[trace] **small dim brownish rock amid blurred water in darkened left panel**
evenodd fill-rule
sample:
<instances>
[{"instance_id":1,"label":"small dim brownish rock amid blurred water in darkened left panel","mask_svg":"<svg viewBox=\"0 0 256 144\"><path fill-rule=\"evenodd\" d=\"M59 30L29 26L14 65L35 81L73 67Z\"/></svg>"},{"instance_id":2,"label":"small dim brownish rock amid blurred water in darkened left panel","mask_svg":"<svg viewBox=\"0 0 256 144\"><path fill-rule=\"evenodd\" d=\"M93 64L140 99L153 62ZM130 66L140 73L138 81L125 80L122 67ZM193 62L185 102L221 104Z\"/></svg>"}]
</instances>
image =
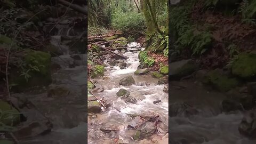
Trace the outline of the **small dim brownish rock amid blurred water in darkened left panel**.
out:
<instances>
[{"instance_id":1,"label":"small dim brownish rock amid blurred water in darkened left panel","mask_svg":"<svg viewBox=\"0 0 256 144\"><path fill-rule=\"evenodd\" d=\"M67 86L51 84L47 91L47 97L66 97L69 93L70 91Z\"/></svg>"}]
</instances>

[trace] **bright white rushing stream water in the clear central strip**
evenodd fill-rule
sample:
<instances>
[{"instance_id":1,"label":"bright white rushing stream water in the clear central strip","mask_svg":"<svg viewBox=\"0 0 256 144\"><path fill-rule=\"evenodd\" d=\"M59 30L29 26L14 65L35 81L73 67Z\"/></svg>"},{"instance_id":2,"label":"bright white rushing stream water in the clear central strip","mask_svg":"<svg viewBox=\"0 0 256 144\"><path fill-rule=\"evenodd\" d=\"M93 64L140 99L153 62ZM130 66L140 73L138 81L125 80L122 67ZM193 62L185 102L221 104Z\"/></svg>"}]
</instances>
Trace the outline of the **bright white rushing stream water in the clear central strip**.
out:
<instances>
[{"instance_id":1,"label":"bright white rushing stream water in the clear central strip","mask_svg":"<svg viewBox=\"0 0 256 144\"><path fill-rule=\"evenodd\" d=\"M129 143L139 143L131 139L135 130L127 130L127 125L132 118L127 114L141 113L158 113L163 122L168 124L168 94L163 92L164 85L157 85L157 79L150 75L134 75L140 62L138 60L138 52L126 52L124 55L129 59L126 69L120 67L106 67L105 77L97 79L97 82L105 87L105 91L95 93L97 97L104 98L110 102L112 107L105 113L98 114L97 118L89 117L88 125L88 143L113 143L114 138L123 139ZM107 61L105 61L108 64ZM135 84L131 86L119 86L119 80L125 76L132 75ZM136 98L136 104L125 103L124 100L118 98L116 93L120 89L126 89L131 92L130 96ZM161 103L155 105L153 101L162 100ZM105 133L99 130L102 125L116 124L119 128L117 133Z\"/></svg>"}]
</instances>

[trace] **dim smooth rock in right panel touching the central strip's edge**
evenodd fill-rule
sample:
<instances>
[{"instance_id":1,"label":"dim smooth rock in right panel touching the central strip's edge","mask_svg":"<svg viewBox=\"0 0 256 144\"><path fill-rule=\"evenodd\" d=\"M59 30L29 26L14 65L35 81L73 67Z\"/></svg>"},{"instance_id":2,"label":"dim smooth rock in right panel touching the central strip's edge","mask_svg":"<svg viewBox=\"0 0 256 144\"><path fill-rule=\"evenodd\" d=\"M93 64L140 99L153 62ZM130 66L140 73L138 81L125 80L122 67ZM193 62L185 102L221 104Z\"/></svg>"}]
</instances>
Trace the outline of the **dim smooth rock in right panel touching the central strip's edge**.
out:
<instances>
[{"instance_id":1,"label":"dim smooth rock in right panel touching the central strip's edge","mask_svg":"<svg viewBox=\"0 0 256 144\"><path fill-rule=\"evenodd\" d=\"M191 59L172 62L169 67L169 79L171 81L192 74L197 69L195 62Z\"/></svg>"}]
</instances>

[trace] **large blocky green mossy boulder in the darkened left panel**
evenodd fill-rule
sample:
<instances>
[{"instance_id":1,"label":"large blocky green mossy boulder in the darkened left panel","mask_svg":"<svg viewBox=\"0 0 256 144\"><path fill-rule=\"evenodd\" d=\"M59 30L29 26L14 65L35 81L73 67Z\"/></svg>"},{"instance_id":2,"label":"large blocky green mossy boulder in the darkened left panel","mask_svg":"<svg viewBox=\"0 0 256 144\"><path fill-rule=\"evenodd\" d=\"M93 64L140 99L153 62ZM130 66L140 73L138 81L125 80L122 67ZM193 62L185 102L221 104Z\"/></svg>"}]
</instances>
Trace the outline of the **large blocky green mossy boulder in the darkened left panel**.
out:
<instances>
[{"instance_id":1,"label":"large blocky green mossy boulder in the darkened left panel","mask_svg":"<svg viewBox=\"0 0 256 144\"><path fill-rule=\"evenodd\" d=\"M23 57L23 62L26 69L30 69L28 74L30 77L26 80L25 76L21 76L21 69L12 70L10 74L11 84L16 84L13 89L23 90L31 86L49 85L52 82L51 78L51 55L49 53L26 50ZM36 67L37 70L31 70L31 67Z\"/></svg>"}]
</instances>

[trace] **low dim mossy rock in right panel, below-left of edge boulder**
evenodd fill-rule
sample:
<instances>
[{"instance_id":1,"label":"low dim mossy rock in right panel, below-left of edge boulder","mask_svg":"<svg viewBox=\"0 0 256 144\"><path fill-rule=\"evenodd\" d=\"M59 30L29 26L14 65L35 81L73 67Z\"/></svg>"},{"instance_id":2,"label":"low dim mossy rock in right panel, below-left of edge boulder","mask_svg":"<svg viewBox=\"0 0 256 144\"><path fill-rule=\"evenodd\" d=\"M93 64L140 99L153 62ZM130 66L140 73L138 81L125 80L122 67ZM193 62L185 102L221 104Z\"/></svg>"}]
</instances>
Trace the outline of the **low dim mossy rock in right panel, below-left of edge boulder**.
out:
<instances>
[{"instance_id":1,"label":"low dim mossy rock in right panel, below-left of edge boulder","mask_svg":"<svg viewBox=\"0 0 256 144\"><path fill-rule=\"evenodd\" d=\"M236 78L230 78L218 69L209 71L204 77L203 83L212 85L222 92L227 92L239 84Z\"/></svg>"}]
</instances>

